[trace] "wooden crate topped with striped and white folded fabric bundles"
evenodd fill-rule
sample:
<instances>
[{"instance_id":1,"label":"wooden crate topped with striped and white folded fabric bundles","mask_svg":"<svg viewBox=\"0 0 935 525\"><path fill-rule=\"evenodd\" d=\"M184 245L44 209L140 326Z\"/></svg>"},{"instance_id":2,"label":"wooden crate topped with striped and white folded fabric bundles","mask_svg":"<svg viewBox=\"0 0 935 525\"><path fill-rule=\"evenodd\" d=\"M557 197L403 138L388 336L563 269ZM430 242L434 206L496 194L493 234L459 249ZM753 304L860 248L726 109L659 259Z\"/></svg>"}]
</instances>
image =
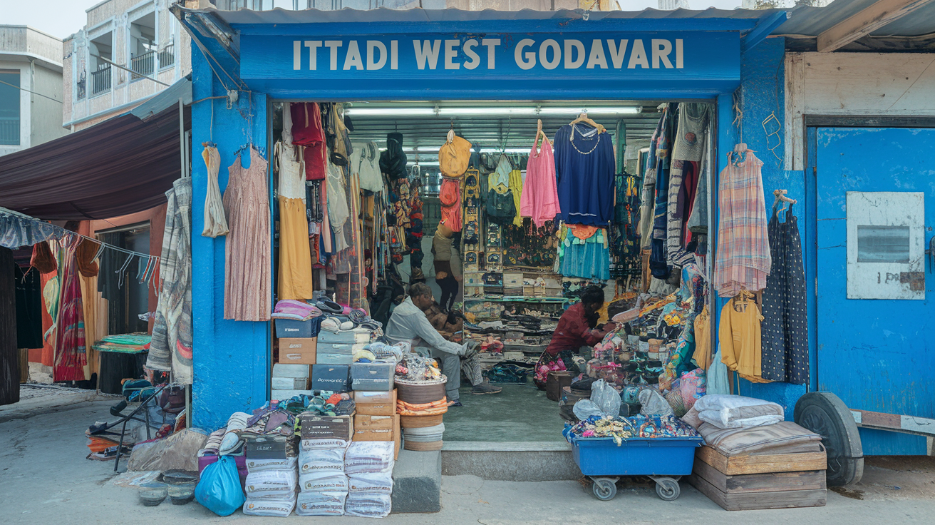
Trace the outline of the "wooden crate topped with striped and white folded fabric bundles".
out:
<instances>
[{"instance_id":1,"label":"wooden crate topped with striped and white folded fabric bundles","mask_svg":"<svg viewBox=\"0 0 935 525\"><path fill-rule=\"evenodd\" d=\"M683 421L705 440L688 480L724 509L826 503L821 436L784 421L782 406L742 396L703 396Z\"/></svg>"}]
</instances>

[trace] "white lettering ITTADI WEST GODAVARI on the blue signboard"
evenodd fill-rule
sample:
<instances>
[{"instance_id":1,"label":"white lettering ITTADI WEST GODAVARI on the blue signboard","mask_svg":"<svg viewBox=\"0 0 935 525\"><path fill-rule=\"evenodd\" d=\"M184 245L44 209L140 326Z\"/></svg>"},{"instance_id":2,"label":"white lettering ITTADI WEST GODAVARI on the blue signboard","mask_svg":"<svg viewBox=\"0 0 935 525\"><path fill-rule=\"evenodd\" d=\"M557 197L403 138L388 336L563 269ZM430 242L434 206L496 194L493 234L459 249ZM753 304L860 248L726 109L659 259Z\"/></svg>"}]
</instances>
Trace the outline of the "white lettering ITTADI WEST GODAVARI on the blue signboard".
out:
<instances>
[{"instance_id":1,"label":"white lettering ITTADI WEST GODAVARI on the blue signboard","mask_svg":"<svg viewBox=\"0 0 935 525\"><path fill-rule=\"evenodd\" d=\"M406 40L402 41L405 45ZM500 38L467 40L411 40L418 69L496 69ZM387 46L387 43L389 46ZM294 40L293 69L380 70L399 69L400 40ZM387 49L388 48L388 49ZM549 38L537 44L531 38L516 43L513 58L520 69L682 69L682 38L593 39L590 42ZM404 65L407 69L408 65Z\"/></svg>"}]
</instances>

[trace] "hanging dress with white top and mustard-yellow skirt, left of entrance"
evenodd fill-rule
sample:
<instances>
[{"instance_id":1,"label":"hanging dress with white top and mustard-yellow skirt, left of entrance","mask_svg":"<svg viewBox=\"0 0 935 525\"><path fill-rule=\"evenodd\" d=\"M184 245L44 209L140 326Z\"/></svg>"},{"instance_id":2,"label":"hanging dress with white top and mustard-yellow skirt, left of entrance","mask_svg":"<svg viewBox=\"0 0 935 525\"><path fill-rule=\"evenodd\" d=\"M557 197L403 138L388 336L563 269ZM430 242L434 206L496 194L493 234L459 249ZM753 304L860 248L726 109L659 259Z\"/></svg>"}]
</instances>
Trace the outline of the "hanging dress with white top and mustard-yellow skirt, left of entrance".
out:
<instances>
[{"instance_id":1,"label":"hanging dress with white top and mustard-yellow skirt, left of entrance","mask_svg":"<svg viewBox=\"0 0 935 525\"><path fill-rule=\"evenodd\" d=\"M306 185L302 165L292 146L276 143L280 172L280 269L277 299L311 299L311 249L306 216Z\"/></svg>"}]
</instances>

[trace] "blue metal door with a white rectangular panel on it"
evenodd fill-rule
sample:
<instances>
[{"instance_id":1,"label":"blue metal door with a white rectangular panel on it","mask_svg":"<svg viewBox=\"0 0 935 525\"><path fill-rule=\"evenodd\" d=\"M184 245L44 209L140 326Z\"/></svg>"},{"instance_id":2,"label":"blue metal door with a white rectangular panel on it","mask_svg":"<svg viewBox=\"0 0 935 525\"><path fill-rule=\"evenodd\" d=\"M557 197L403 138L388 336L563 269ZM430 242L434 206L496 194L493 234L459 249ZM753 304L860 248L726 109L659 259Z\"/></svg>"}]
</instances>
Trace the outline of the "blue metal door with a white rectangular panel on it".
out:
<instances>
[{"instance_id":1,"label":"blue metal door with a white rectangular panel on it","mask_svg":"<svg viewBox=\"0 0 935 525\"><path fill-rule=\"evenodd\" d=\"M818 128L814 152L818 388L849 408L935 416L935 129ZM926 454L924 437L860 430L865 455Z\"/></svg>"}]
</instances>

